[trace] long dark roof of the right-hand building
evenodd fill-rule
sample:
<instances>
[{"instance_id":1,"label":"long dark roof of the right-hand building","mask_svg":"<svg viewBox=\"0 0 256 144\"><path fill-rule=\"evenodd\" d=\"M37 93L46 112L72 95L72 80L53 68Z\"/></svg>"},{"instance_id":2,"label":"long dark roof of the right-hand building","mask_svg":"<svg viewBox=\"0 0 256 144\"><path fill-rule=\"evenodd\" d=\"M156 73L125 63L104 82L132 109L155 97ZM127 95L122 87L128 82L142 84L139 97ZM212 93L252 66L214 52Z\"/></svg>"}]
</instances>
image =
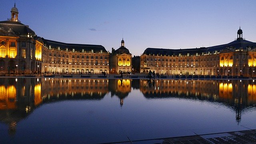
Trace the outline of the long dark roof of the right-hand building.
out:
<instances>
[{"instance_id":1,"label":"long dark roof of the right-hand building","mask_svg":"<svg viewBox=\"0 0 256 144\"><path fill-rule=\"evenodd\" d=\"M158 54L158 55L169 55L169 56L178 56L179 54L187 55L195 55L196 53L202 54L204 53L214 53L220 52L224 49L235 48L235 49L246 49L246 48L256 48L255 42L250 42L248 40L234 40L228 44L222 44L218 46L210 46L210 47L201 47L201 48L186 48L186 49L165 49L165 48L146 48L143 54Z\"/></svg>"}]
</instances>

